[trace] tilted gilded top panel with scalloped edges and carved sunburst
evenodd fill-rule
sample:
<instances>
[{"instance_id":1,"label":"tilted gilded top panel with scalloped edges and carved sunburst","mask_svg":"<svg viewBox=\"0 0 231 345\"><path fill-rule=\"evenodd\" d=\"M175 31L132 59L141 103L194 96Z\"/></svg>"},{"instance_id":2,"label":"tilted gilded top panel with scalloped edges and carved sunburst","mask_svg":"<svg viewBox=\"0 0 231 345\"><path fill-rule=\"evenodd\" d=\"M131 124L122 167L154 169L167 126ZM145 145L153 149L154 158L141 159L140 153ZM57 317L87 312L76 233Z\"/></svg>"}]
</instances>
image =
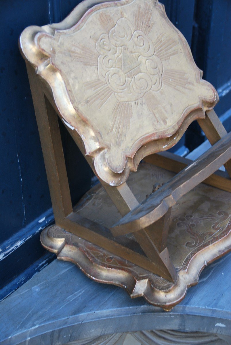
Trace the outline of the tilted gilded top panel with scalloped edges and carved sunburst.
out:
<instances>
[{"instance_id":1,"label":"tilted gilded top panel with scalloped edges and carved sunburst","mask_svg":"<svg viewBox=\"0 0 231 345\"><path fill-rule=\"evenodd\" d=\"M25 29L20 47L110 185L123 183L145 155L176 144L218 101L158 1L98 4L58 27Z\"/></svg>"}]
</instances>

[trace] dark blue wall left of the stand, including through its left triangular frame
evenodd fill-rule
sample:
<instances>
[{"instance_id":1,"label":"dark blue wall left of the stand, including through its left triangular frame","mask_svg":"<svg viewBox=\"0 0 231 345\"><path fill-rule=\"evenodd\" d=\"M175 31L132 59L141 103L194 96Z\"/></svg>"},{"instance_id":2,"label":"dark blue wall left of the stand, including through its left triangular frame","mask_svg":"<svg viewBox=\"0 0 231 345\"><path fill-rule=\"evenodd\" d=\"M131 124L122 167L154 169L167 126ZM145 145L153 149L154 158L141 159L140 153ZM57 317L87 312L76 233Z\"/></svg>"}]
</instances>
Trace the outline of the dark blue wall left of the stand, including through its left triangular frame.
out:
<instances>
[{"instance_id":1,"label":"dark blue wall left of the stand, including through its left triangular frame","mask_svg":"<svg viewBox=\"0 0 231 345\"><path fill-rule=\"evenodd\" d=\"M51 208L35 113L18 38L29 25L60 21L77 0L0 2L0 272L1 287L44 255L42 218ZM71 196L90 188L91 170L70 136L62 135ZM50 219L53 219L52 217Z\"/></svg>"}]
</instances>

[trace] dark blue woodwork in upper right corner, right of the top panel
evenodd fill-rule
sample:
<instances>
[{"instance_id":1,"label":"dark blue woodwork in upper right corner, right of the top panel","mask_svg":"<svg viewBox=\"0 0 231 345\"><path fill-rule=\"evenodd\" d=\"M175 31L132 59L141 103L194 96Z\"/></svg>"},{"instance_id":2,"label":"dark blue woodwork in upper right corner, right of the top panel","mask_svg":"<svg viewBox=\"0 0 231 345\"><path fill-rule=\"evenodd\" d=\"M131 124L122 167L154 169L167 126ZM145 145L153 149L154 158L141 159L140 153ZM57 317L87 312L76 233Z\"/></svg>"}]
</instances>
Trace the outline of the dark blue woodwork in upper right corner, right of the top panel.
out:
<instances>
[{"instance_id":1,"label":"dark blue woodwork in upper right corner, right of the top panel","mask_svg":"<svg viewBox=\"0 0 231 345\"><path fill-rule=\"evenodd\" d=\"M230 0L196 0L192 52L204 79L218 90L219 115L231 106L230 15Z\"/></svg>"}]
</instances>

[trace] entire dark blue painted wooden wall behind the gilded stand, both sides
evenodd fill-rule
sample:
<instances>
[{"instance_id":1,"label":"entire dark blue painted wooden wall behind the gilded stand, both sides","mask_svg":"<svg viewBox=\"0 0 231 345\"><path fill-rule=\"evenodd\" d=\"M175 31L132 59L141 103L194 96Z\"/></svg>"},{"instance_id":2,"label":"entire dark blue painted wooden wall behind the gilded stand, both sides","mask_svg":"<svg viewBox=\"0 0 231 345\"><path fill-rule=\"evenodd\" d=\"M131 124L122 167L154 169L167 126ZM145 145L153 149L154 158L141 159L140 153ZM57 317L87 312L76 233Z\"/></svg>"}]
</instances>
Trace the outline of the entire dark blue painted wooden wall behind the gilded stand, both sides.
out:
<instances>
[{"instance_id":1,"label":"entire dark blue painted wooden wall behind the gilded stand, both sides","mask_svg":"<svg viewBox=\"0 0 231 345\"><path fill-rule=\"evenodd\" d=\"M231 130L230 0L164 0L167 15L190 46L204 77L218 89L216 111ZM0 1L0 299L53 259L39 243L53 221L25 62L18 37L29 25L59 22L77 0ZM91 171L61 127L71 196L90 188ZM199 139L198 139L199 138ZM204 140L193 124L176 148L190 150Z\"/></svg>"}]
</instances>

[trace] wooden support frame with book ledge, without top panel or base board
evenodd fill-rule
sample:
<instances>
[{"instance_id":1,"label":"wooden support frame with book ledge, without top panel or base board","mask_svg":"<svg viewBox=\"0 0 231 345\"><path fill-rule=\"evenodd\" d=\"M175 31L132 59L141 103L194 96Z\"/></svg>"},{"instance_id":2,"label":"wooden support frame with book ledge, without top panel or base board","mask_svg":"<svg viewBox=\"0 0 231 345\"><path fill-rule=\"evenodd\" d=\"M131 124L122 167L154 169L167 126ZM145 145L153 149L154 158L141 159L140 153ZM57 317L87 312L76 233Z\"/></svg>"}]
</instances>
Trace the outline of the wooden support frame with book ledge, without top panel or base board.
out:
<instances>
[{"instance_id":1,"label":"wooden support frame with book ledge, without top panel or base board","mask_svg":"<svg viewBox=\"0 0 231 345\"><path fill-rule=\"evenodd\" d=\"M61 119L62 117L51 90L36 75L35 69L28 62L27 70L56 224L175 282L177 273L166 247L171 207L182 195L202 181L231 191L231 180L225 178L222 173L214 174L220 166L225 165L231 175L231 135L227 134L215 112L210 110L206 113L205 119L198 120L213 146L195 162L166 153L146 157L146 161L157 166L175 172L183 170L151 194L141 205L126 182L116 187L100 181L122 215L122 219L109 230L73 212L58 124L58 115ZM83 143L77 132L67 124L65 126L84 154ZM85 158L93 167L92 159L87 156ZM128 233L133 233L136 241L125 237Z\"/></svg>"}]
</instances>

